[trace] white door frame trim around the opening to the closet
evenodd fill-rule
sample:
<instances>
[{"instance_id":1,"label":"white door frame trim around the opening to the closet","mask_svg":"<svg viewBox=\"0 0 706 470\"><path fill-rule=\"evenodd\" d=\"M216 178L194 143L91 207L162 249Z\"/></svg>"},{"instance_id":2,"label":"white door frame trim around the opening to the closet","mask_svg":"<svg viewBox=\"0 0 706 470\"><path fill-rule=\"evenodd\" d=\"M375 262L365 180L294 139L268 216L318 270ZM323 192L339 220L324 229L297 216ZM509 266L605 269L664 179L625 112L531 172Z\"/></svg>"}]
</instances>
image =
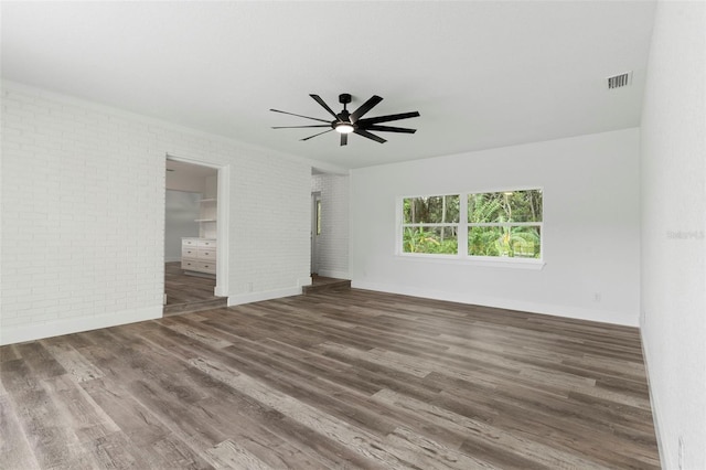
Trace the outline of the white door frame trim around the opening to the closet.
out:
<instances>
[{"instance_id":1,"label":"white door frame trim around the opening to the closet","mask_svg":"<svg viewBox=\"0 0 706 470\"><path fill-rule=\"evenodd\" d=\"M217 174L217 205L216 205L216 287L214 288L214 296L228 297L229 286L229 221L228 214L231 213L231 165L214 163L204 160L199 157L184 157L175 156L167 152L165 160L180 161L182 163L197 164L200 167L213 168ZM164 191L167 191L167 179L164 179ZM164 202L164 212L167 211L167 202ZM162 249L163 252L163 249Z\"/></svg>"}]
</instances>

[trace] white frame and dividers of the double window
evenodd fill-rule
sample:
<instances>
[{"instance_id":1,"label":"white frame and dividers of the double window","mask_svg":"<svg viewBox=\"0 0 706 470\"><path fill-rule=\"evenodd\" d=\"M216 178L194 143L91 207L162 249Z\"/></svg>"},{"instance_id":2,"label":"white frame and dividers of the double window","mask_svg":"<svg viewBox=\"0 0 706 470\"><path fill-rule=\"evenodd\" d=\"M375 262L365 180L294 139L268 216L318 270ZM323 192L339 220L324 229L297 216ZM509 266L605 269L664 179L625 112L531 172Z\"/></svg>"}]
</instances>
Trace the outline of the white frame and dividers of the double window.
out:
<instances>
[{"instance_id":1,"label":"white frame and dividers of the double window","mask_svg":"<svg viewBox=\"0 0 706 470\"><path fill-rule=\"evenodd\" d=\"M464 263L477 266L494 266L494 267L514 267L514 268L528 268L528 269L542 269L545 266L544 256L544 201L542 203L542 222L507 222L507 223L469 223L468 222L468 197L471 194L484 194L484 193L503 193L514 191L530 191L539 190L544 194L544 188L542 186L526 186L526 188L512 188L512 189L493 189L486 191L461 191L449 193L432 193L432 194L415 194L403 195L396 197L396 242L395 242L395 255L399 259L409 260L430 260L435 263ZM459 196L459 222L446 223L446 224L405 224L404 223L404 200L416 197L434 197L434 196ZM425 227L447 227L456 226L458 234L458 252L452 254L435 254L435 253L405 253L404 252L404 231L406 227L425 226ZM523 258L523 257L505 257L505 256L474 256L468 254L468 229L471 226L538 226L539 227L539 258Z\"/></svg>"}]
</instances>

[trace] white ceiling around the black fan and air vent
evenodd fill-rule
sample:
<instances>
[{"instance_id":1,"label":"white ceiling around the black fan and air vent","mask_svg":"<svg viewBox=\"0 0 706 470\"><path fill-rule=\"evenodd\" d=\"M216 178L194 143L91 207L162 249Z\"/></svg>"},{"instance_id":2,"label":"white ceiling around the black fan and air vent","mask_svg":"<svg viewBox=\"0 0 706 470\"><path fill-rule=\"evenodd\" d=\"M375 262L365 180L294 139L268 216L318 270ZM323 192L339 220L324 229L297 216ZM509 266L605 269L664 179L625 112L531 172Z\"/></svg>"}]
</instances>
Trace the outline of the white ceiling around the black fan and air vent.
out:
<instances>
[{"instance_id":1,"label":"white ceiling around the black fan and air vent","mask_svg":"<svg viewBox=\"0 0 706 470\"><path fill-rule=\"evenodd\" d=\"M2 77L361 168L640 125L653 1L1 2ZM606 78L633 71L632 86ZM386 143L271 126L366 117Z\"/></svg>"}]
</instances>

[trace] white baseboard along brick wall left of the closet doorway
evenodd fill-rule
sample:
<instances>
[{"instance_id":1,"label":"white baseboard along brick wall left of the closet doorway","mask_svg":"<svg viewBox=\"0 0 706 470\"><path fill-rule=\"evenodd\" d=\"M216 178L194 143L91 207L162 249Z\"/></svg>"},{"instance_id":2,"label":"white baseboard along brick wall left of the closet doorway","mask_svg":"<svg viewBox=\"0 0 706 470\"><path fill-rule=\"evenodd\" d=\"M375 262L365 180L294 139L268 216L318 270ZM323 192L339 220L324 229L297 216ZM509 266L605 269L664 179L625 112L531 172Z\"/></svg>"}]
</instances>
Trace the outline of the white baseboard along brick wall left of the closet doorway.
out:
<instances>
[{"instance_id":1,"label":"white baseboard along brick wall left of the closet doorway","mask_svg":"<svg viewBox=\"0 0 706 470\"><path fill-rule=\"evenodd\" d=\"M95 317L77 317L43 323L3 327L0 331L0 345L97 330L99 328L117 327L119 324L153 320L156 318L162 318L162 306L122 310Z\"/></svg>"}]
</instances>

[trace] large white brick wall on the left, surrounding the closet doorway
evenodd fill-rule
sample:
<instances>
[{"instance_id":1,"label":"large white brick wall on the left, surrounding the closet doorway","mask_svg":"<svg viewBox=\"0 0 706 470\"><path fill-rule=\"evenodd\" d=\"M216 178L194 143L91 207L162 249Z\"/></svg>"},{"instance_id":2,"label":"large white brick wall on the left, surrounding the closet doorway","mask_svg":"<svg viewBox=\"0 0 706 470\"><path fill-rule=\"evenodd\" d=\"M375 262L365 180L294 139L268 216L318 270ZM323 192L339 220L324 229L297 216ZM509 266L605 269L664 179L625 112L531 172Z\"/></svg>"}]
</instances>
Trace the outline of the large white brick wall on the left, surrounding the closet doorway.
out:
<instances>
[{"instance_id":1,"label":"large white brick wall on the left, surrounding the closet doorway","mask_svg":"<svg viewBox=\"0 0 706 470\"><path fill-rule=\"evenodd\" d=\"M229 165L232 303L307 284L307 162L20 84L1 98L0 344L161 317L168 152Z\"/></svg>"}]
</instances>

